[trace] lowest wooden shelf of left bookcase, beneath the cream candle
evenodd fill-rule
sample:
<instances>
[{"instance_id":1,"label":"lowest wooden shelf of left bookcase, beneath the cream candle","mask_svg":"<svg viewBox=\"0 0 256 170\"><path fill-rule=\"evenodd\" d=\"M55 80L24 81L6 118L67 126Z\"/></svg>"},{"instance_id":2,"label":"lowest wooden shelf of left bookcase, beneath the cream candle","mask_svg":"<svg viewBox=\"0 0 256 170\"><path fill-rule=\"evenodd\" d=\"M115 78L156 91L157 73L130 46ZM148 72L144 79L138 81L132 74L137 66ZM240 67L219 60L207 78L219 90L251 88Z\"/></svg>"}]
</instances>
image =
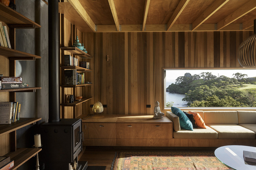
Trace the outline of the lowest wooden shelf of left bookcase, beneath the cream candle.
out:
<instances>
[{"instance_id":1,"label":"lowest wooden shelf of left bookcase, beneath the cream candle","mask_svg":"<svg viewBox=\"0 0 256 170\"><path fill-rule=\"evenodd\" d=\"M15 152L9 152L4 156L10 156L11 160L14 160L14 166L12 167L12 170L14 170L27 162L41 150L41 148L17 148Z\"/></svg>"}]
</instances>

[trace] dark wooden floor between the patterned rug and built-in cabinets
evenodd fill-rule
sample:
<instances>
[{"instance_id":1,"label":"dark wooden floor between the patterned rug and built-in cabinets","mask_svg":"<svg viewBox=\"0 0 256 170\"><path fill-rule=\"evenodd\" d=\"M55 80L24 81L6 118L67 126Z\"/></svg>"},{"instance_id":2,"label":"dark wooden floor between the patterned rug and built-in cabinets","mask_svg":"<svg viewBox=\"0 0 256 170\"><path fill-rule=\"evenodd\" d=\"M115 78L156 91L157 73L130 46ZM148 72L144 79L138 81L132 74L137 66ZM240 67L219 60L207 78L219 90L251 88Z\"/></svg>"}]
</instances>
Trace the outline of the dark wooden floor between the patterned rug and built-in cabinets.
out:
<instances>
[{"instance_id":1,"label":"dark wooden floor between the patterned rug and built-in cabinets","mask_svg":"<svg viewBox=\"0 0 256 170\"><path fill-rule=\"evenodd\" d=\"M88 166L106 166L106 170L110 170L115 152L144 152L144 151L155 151L155 152L170 152L174 150L183 151L212 151L216 148L205 148L205 147L86 147L85 152L79 159L79 161L87 161Z\"/></svg>"}]
</instances>

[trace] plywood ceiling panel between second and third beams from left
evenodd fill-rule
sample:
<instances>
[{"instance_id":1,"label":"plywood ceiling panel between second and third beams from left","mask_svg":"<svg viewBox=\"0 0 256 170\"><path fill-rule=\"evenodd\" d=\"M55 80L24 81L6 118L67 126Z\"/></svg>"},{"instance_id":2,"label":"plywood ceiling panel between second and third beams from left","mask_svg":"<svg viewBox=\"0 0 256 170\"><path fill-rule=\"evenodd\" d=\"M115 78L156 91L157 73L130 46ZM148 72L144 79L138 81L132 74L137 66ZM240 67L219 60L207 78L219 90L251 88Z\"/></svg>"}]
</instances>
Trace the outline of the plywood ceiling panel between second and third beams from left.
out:
<instances>
[{"instance_id":1,"label":"plywood ceiling panel between second and third beams from left","mask_svg":"<svg viewBox=\"0 0 256 170\"><path fill-rule=\"evenodd\" d=\"M145 0L114 0L114 3L120 25L142 24Z\"/></svg>"}]
</instances>

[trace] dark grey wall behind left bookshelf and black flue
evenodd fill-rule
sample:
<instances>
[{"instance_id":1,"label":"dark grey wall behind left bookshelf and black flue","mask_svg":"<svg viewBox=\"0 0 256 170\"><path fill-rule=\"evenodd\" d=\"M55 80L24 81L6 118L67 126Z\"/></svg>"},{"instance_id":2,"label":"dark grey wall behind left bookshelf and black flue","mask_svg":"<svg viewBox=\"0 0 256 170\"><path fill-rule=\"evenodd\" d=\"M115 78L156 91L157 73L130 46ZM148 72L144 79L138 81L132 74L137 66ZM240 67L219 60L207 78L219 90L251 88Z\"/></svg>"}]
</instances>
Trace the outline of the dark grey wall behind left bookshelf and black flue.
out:
<instances>
[{"instance_id":1,"label":"dark grey wall behind left bookshelf and black flue","mask_svg":"<svg viewBox=\"0 0 256 170\"><path fill-rule=\"evenodd\" d=\"M22 104L21 117L41 117L40 124L48 121L48 6L42 0L18 0L16 11L41 25L37 29L16 29L16 49L42 57L16 61L16 76L30 87L42 87L36 92L16 93L16 101ZM17 147L34 145L34 134L40 133L38 124L17 131ZM35 158L18 169L35 169Z\"/></svg>"}]
</instances>

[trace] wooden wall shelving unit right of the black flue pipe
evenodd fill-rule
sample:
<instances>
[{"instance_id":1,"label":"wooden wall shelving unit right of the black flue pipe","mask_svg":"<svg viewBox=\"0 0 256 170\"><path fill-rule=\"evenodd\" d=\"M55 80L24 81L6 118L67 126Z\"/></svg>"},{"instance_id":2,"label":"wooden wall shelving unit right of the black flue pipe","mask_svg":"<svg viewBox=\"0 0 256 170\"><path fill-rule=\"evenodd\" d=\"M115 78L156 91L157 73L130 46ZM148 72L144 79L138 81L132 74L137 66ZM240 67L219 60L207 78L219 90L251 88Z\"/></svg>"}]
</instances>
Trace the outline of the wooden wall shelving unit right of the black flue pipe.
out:
<instances>
[{"instance_id":1,"label":"wooden wall shelving unit right of the black flue pipe","mask_svg":"<svg viewBox=\"0 0 256 170\"><path fill-rule=\"evenodd\" d=\"M63 54L64 54L64 51L67 51L67 52L70 52L73 57L80 57L81 59L91 59L93 58L91 55L85 53L84 51L80 50L79 48L77 47L61 47L60 48L62 50L62 62L63 62ZM90 69L86 69L86 68L83 68L83 67L79 67L79 66L61 66L61 77L62 77L62 82L64 81L63 79L63 75L64 75L64 71L67 70L67 69L76 69L76 71L81 71L81 72L92 72L93 70L90 70ZM85 86L91 86L92 84L77 84L77 85L61 85L61 116L62 118L65 118L65 113L64 113L64 110L65 110L65 107L73 107L73 118L76 118L77 117L77 113L76 113L76 106L77 105L80 105L88 100L91 100L93 99L93 97L88 97L90 95L88 95L87 97L84 97L82 98L80 101L74 101L73 103L65 103L65 88L72 88L72 93L74 95L74 97L77 95L77 90L76 88L77 87L85 87Z\"/></svg>"}]
</instances>

